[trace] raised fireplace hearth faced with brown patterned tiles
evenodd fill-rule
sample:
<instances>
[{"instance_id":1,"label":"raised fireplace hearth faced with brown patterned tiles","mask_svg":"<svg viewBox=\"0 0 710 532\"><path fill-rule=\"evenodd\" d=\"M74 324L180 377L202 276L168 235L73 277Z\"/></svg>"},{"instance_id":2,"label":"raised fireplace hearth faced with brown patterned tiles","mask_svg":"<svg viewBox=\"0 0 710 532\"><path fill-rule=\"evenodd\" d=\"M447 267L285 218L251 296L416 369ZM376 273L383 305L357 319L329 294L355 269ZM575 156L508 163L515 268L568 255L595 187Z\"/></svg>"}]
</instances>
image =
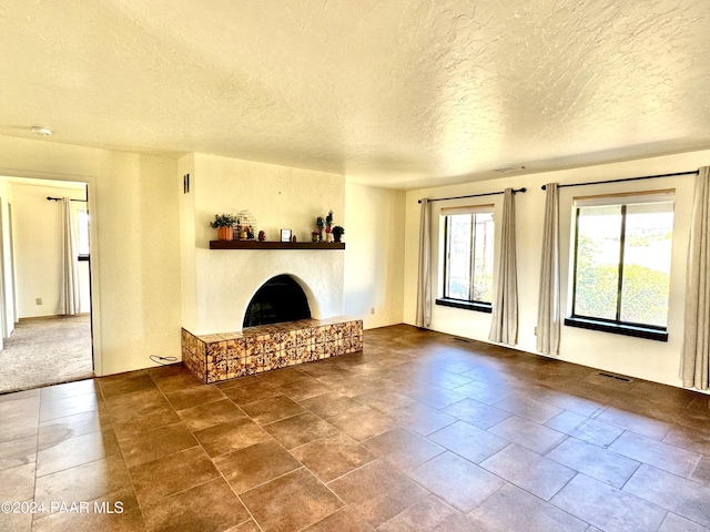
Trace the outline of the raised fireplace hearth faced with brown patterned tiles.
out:
<instances>
[{"instance_id":1,"label":"raised fireplace hearth faced with brown patterned tiles","mask_svg":"<svg viewBox=\"0 0 710 532\"><path fill-rule=\"evenodd\" d=\"M338 317L195 336L182 329L182 359L204 383L220 382L363 349L363 321Z\"/></svg>"}]
</instances>

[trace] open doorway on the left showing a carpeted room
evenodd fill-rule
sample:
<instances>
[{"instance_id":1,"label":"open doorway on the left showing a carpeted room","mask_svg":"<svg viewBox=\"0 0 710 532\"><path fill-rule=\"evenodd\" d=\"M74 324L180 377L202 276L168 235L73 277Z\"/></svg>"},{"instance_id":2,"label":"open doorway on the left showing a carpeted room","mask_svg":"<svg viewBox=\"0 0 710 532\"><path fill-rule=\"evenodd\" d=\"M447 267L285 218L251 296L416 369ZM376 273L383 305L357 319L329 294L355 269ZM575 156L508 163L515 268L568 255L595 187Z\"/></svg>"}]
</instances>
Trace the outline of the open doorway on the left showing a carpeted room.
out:
<instances>
[{"instance_id":1,"label":"open doorway on the left showing a carpeted room","mask_svg":"<svg viewBox=\"0 0 710 532\"><path fill-rule=\"evenodd\" d=\"M87 192L0 176L0 393L94 375Z\"/></svg>"}]
</instances>

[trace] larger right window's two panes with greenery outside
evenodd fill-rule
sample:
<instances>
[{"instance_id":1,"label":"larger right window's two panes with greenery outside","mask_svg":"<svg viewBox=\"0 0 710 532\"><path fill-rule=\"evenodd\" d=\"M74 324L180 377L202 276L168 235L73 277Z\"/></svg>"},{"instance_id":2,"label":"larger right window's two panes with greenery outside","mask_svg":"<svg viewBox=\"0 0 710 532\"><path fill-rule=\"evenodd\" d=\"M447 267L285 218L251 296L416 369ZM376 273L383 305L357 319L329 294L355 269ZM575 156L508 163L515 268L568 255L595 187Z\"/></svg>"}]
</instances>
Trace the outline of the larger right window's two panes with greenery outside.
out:
<instances>
[{"instance_id":1,"label":"larger right window's two panes with greenery outside","mask_svg":"<svg viewBox=\"0 0 710 532\"><path fill-rule=\"evenodd\" d=\"M672 203L579 207L574 315L666 327L672 231Z\"/></svg>"}]
</instances>

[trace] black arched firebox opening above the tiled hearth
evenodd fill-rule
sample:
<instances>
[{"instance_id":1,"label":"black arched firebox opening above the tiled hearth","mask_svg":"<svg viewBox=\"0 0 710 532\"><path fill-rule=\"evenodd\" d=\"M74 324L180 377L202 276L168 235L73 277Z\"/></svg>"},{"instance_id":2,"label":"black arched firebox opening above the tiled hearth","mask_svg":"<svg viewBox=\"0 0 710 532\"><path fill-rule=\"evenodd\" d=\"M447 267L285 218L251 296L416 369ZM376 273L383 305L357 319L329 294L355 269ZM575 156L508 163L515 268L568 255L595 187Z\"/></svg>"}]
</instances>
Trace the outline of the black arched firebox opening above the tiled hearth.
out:
<instances>
[{"instance_id":1,"label":"black arched firebox opening above the tiled hearth","mask_svg":"<svg viewBox=\"0 0 710 532\"><path fill-rule=\"evenodd\" d=\"M281 324L311 317L308 298L288 275L277 275L256 290L246 307L243 327Z\"/></svg>"}]
</instances>

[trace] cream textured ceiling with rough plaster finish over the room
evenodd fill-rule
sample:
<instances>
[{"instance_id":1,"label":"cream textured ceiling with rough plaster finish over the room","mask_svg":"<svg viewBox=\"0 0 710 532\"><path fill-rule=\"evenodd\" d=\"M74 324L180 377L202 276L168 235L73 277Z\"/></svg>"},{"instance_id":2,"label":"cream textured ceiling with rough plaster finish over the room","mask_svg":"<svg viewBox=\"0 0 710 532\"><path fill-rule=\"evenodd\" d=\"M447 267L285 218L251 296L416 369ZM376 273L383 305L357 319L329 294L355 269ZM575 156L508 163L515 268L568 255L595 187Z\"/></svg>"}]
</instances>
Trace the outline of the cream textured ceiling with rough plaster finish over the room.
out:
<instances>
[{"instance_id":1,"label":"cream textured ceiling with rough plaster finish over the room","mask_svg":"<svg viewBox=\"0 0 710 532\"><path fill-rule=\"evenodd\" d=\"M710 147L708 0L4 0L0 134L413 187Z\"/></svg>"}]
</instances>

